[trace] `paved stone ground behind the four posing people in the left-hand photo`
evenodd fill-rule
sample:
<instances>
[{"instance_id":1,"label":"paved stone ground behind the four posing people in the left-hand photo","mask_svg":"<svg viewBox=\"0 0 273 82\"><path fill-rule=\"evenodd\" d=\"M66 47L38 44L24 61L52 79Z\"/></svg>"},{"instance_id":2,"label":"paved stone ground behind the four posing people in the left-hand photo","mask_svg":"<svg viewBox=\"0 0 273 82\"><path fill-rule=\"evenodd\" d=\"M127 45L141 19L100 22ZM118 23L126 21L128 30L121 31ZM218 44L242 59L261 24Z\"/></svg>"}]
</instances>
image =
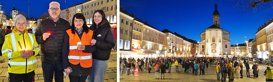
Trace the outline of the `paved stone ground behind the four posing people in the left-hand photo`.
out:
<instances>
[{"instance_id":1,"label":"paved stone ground behind the four posing people in the left-hand photo","mask_svg":"<svg viewBox=\"0 0 273 82\"><path fill-rule=\"evenodd\" d=\"M43 70L41 56L36 56L37 63L35 66L35 82L44 82ZM0 56L0 60L5 60L4 63L0 63L0 82L8 82L7 77L5 76L5 71L7 71L8 60ZM108 60L108 68L105 73L104 82L116 82L117 81L117 51L112 50L110 58ZM53 82L54 78L53 78ZM64 82L69 82L69 78L65 79ZM87 82L87 80L86 80Z\"/></svg>"}]
</instances>

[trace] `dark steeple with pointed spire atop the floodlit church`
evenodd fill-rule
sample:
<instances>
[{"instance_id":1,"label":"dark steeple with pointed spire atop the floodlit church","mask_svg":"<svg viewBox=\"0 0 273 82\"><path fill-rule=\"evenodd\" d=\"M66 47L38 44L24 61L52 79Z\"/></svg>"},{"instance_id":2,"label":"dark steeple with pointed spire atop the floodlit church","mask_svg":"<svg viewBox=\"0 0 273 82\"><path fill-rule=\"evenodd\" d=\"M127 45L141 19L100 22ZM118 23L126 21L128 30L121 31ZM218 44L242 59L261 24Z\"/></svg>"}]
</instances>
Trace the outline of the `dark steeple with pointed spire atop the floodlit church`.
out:
<instances>
[{"instance_id":1,"label":"dark steeple with pointed spire atop the floodlit church","mask_svg":"<svg viewBox=\"0 0 273 82\"><path fill-rule=\"evenodd\" d=\"M216 25L216 26L218 26L218 27L220 27L220 14L219 14L219 12L218 12L218 10L217 10L217 5L216 5L216 2L215 2L215 5L214 5L214 12L213 12L213 14L212 14L212 16L213 16L213 24L214 25Z\"/></svg>"}]
</instances>

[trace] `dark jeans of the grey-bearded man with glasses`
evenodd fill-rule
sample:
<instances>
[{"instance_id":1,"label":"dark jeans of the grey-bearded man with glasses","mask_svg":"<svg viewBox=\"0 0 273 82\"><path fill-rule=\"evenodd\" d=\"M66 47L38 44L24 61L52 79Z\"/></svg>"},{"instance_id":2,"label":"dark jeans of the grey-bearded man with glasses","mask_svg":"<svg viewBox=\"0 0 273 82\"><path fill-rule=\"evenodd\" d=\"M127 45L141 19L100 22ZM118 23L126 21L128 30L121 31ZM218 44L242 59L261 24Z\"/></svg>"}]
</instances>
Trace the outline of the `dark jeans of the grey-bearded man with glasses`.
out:
<instances>
[{"instance_id":1,"label":"dark jeans of the grey-bearded man with glasses","mask_svg":"<svg viewBox=\"0 0 273 82\"><path fill-rule=\"evenodd\" d=\"M55 82L64 82L63 63L51 64L42 62L42 69L44 82L52 82L53 75L55 77Z\"/></svg>"}]
</instances>

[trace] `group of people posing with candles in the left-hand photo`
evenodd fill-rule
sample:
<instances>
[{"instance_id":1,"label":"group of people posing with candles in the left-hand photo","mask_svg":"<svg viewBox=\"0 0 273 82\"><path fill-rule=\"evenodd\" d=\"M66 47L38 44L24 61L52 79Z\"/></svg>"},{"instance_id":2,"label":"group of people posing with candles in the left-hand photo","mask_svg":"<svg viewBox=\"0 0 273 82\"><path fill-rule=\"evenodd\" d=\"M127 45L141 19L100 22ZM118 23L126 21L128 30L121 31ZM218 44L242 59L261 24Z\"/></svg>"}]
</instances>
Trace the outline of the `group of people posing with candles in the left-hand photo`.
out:
<instances>
[{"instance_id":1,"label":"group of people posing with candles in the left-hand photo","mask_svg":"<svg viewBox=\"0 0 273 82\"><path fill-rule=\"evenodd\" d=\"M34 82L35 56L40 52L44 82L52 82L53 76L55 82L64 82L64 74L69 75L70 82L86 79L103 82L115 46L114 32L105 13L94 11L92 26L87 27L81 13L74 15L72 25L61 19L58 2L49 3L48 12L50 17L39 25L36 23L33 29L26 29L23 15L15 17L16 28L7 26L9 34L2 33L3 24L0 24L1 55L9 59L9 82Z\"/></svg>"}]
</instances>

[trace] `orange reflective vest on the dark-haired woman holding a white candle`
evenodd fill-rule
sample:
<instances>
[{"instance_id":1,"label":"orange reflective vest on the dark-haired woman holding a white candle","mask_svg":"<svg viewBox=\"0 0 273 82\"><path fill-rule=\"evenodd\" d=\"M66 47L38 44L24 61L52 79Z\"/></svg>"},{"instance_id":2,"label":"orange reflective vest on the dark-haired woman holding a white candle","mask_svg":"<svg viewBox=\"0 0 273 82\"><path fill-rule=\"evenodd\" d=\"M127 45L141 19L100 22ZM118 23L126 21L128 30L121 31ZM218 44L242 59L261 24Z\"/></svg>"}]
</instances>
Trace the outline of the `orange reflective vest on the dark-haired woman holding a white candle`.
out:
<instances>
[{"instance_id":1,"label":"orange reflective vest on the dark-haired woman holding a white candle","mask_svg":"<svg viewBox=\"0 0 273 82\"><path fill-rule=\"evenodd\" d=\"M72 34L71 29L66 30L67 34L69 35L69 54L68 60L70 63L77 65L80 63L81 67L87 68L92 66L92 53L85 53L81 50L78 50L77 43L81 42L84 45L91 45L93 31L89 30L86 34L85 32L82 33L82 38L80 39L78 34Z\"/></svg>"}]
</instances>

